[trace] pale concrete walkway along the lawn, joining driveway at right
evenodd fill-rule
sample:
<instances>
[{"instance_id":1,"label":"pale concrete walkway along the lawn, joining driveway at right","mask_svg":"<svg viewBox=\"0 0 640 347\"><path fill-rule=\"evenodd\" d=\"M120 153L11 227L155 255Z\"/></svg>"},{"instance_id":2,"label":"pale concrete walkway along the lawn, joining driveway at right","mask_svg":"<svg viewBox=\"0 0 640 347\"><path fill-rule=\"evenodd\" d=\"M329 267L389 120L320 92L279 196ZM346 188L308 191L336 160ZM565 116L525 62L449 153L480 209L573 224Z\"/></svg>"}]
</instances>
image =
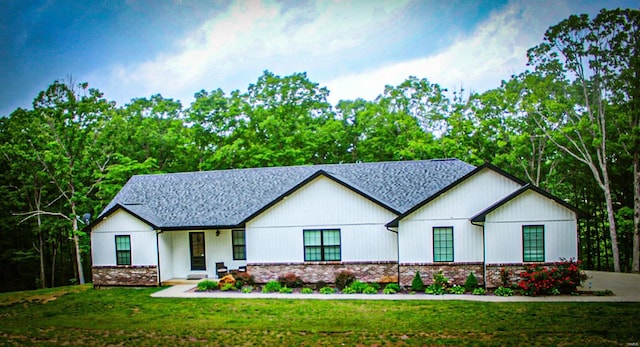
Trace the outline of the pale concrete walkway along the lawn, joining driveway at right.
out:
<instances>
[{"instance_id":1,"label":"pale concrete walkway along the lawn, joining driveway at right","mask_svg":"<svg viewBox=\"0 0 640 347\"><path fill-rule=\"evenodd\" d=\"M640 302L640 275L601 271L585 271L589 278L580 287L583 291L613 291L613 296L495 296L495 295L425 295L425 294L249 294L239 292L195 292L196 284L179 284L151 294L156 298L212 299L292 299L292 300L465 300L488 302Z\"/></svg>"}]
</instances>

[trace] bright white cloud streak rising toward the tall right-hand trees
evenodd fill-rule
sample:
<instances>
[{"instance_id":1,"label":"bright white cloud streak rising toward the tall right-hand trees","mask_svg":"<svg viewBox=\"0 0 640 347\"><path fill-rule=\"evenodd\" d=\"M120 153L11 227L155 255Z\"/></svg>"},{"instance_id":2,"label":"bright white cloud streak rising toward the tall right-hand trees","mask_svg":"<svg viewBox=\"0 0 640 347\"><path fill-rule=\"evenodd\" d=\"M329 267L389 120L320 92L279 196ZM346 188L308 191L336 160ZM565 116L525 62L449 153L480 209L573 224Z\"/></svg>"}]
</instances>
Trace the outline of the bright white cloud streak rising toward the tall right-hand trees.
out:
<instances>
[{"instance_id":1,"label":"bright white cloud streak rising toward the tall right-hand trees","mask_svg":"<svg viewBox=\"0 0 640 347\"><path fill-rule=\"evenodd\" d=\"M549 0L513 1L492 13L469 36L461 37L438 54L395 63L323 82L330 101L358 97L371 100L385 85L398 85L408 76L426 77L450 90L482 92L496 88L526 69L526 51L542 41L545 30L568 17L571 10Z\"/></svg>"}]
</instances>

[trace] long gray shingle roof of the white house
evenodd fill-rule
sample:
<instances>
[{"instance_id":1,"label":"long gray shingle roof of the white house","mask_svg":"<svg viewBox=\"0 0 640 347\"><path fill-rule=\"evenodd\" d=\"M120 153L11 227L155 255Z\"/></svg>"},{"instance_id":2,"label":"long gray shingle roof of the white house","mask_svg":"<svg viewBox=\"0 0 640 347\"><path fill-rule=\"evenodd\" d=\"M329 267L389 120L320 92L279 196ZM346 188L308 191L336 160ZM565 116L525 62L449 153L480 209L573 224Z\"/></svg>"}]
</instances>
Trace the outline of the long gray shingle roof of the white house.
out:
<instances>
[{"instance_id":1,"label":"long gray shingle roof of the white house","mask_svg":"<svg viewBox=\"0 0 640 347\"><path fill-rule=\"evenodd\" d=\"M319 172L401 214L474 168L439 159L140 175L101 217L120 205L162 229L240 226Z\"/></svg>"}]
</instances>

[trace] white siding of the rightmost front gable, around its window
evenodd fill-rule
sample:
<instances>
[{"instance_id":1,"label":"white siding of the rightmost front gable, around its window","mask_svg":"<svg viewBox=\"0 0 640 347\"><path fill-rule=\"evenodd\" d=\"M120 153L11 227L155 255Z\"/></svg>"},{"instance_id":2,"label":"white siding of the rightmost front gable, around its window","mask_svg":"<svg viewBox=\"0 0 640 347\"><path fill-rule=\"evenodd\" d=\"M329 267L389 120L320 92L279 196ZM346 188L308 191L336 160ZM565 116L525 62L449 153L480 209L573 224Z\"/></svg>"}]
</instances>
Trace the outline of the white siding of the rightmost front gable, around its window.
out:
<instances>
[{"instance_id":1,"label":"white siding of the rightmost front gable, around its window","mask_svg":"<svg viewBox=\"0 0 640 347\"><path fill-rule=\"evenodd\" d=\"M578 257L575 212L529 190L489 213L485 220L488 264L520 263L522 227L544 226L546 262Z\"/></svg>"}]
</instances>

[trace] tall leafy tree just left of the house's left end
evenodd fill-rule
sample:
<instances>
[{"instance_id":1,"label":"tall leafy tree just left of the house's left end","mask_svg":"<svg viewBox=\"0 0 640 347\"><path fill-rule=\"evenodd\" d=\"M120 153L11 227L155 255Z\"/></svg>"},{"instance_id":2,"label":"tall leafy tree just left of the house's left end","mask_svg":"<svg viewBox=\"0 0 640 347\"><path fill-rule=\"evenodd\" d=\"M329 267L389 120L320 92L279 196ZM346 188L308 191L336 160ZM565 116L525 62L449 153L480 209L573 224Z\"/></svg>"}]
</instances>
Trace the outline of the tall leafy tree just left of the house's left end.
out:
<instances>
[{"instance_id":1,"label":"tall leafy tree just left of the house's left end","mask_svg":"<svg viewBox=\"0 0 640 347\"><path fill-rule=\"evenodd\" d=\"M76 271L80 284L85 282L78 227L80 211L89 211L89 195L97 183L96 171L104 171L108 157L94 145L100 119L113 103L102 98L102 93L87 83L77 86L72 81L55 81L40 92L33 102L35 112L45 125L40 136L43 141L34 144L40 167L65 203L65 211L58 215L70 225L75 247Z\"/></svg>"}]
</instances>

